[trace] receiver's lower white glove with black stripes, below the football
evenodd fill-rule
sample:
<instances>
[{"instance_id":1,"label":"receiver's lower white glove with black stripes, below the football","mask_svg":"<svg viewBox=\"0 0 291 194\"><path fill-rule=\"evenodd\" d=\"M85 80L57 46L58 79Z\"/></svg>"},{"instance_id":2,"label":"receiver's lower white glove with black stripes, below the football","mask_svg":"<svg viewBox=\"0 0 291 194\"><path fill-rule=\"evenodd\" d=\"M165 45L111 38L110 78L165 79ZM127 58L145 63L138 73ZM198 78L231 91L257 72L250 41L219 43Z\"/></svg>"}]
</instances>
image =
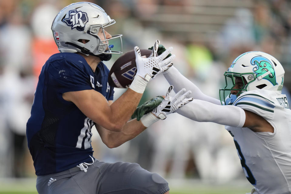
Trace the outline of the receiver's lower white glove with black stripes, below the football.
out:
<instances>
[{"instance_id":1,"label":"receiver's lower white glove with black stripes, below the football","mask_svg":"<svg viewBox=\"0 0 291 194\"><path fill-rule=\"evenodd\" d=\"M191 91L187 91L183 88L173 97L171 96L171 92L174 86L170 86L168 92L166 93L165 99L162 103L153 109L152 113L159 117L160 119L166 119L166 115L175 112L180 107L186 105L188 102L191 102L193 98L186 98L188 95L191 94Z\"/></svg>"}]
</instances>

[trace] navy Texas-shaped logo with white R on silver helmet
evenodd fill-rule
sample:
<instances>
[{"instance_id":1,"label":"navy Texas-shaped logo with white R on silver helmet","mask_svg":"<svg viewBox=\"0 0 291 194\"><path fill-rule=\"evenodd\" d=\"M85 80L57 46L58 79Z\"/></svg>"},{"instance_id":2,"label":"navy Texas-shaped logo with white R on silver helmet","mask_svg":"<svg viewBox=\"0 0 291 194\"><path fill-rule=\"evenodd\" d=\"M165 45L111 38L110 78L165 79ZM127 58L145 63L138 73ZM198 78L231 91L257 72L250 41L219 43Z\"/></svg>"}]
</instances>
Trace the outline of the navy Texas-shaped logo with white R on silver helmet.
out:
<instances>
[{"instance_id":1,"label":"navy Texas-shaped logo with white R on silver helmet","mask_svg":"<svg viewBox=\"0 0 291 194\"><path fill-rule=\"evenodd\" d=\"M69 17L64 18L62 22L65 22L68 26L71 26L71 29L76 28L79 31L83 31L85 24L88 22L87 13L77 10L70 10Z\"/></svg>"}]
</instances>

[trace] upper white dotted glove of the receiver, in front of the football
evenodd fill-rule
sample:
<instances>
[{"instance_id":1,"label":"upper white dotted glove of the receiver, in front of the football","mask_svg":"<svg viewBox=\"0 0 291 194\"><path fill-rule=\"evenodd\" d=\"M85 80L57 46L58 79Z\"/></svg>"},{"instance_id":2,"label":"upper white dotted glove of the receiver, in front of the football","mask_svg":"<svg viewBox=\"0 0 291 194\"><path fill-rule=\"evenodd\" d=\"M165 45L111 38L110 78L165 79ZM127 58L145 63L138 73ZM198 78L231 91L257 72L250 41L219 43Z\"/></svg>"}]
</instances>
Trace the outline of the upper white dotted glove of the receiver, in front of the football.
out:
<instances>
[{"instance_id":1,"label":"upper white dotted glove of the receiver, in front of the football","mask_svg":"<svg viewBox=\"0 0 291 194\"><path fill-rule=\"evenodd\" d=\"M152 48L152 54L148 58L142 58L139 47L134 47L135 62L137 67L136 75L139 75L147 82L154 79L158 74L166 69L169 69L169 67L173 65L171 61L175 58L175 55L171 55L169 58L166 58L166 56L172 51L173 47L170 47L161 55L157 56L159 43L160 41L156 40L155 45Z\"/></svg>"}]
</instances>

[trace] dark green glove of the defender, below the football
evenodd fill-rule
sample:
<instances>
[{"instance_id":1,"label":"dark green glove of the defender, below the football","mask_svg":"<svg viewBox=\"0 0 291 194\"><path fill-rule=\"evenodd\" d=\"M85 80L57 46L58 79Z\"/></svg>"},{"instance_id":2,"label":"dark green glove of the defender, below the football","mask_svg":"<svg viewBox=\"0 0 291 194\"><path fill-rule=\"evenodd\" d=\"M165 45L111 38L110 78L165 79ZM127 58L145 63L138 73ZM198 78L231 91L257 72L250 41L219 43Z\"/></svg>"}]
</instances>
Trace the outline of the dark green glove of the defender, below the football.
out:
<instances>
[{"instance_id":1,"label":"dark green glove of the defender, below the football","mask_svg":"<svg viewBox=\"0 0 291 194\"><path fill-rule=\"evenodd\" d=\"M136 108L131 118L132 119L136 118L136 120L139 121L143 115L151 112L154 108L159 106L163 100L164 98L162 96L157 96L155 98L150 99L149 101L146 101L145 103Z\"/></svg>"}]
</instances>

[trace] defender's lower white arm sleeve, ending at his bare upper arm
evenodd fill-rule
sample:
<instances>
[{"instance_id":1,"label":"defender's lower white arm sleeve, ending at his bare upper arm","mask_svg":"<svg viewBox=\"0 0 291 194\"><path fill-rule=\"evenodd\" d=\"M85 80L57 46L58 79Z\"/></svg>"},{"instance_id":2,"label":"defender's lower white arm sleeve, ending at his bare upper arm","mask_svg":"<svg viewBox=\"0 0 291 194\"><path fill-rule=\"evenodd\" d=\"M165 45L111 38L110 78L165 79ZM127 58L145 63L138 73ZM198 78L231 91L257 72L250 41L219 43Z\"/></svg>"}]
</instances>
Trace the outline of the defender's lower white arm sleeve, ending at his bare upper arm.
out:
<instances>
[{"instance_id":1,"label":"defender's lower white arm sleeve, ending at his bare upper arm","mask_svg":"<svg viewBox=\"0 0 291 194\"><path fill-rule=\"evenodd\" d=\"M215 122L231 127L243 127L246 113L233 105L216 105L203 100L193 100L176 110L177 113L198 122Z\"/></svg>"}]
</instances>

